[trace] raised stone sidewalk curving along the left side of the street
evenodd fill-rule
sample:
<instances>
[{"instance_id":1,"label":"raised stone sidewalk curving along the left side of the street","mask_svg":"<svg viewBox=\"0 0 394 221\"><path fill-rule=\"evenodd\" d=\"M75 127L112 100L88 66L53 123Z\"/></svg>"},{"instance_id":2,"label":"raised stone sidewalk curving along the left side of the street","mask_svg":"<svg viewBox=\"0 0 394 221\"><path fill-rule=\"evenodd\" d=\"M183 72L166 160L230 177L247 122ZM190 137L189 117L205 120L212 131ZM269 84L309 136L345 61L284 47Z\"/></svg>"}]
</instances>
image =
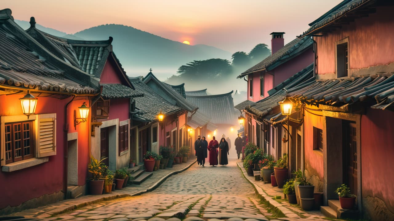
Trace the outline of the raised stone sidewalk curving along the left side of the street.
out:
<instances>
[{"instance_id":1,"label":"raised stone sidewalk curving along the left side of the street","mask_svg":"<svg viewBox=\"0 0 394 221\"><path fill-rule=\"evenodd\" d=\"M141 185L128 185L122 190L115 190L112 193L106 193L103 195L84 195L76 199L67 199L59 201L57 203L48 204L46 206L41 206L34 209L23 210L22 212L17 212L10 214L12 216L24 216L26 218L38 218L43 219L51 217L56 214L61 214L69 210L75 210L77 208L99 203L102 201L108 201L112 199L118 199L121 197L130 197L135 195L140 195L157 188L162 182L165 181L171 175L180 173L195 163L195 160L188 160L187 163L174 164L173 168L159 169L153 171L153 175L145 180Z\"/></svg>"}]
</instances>

